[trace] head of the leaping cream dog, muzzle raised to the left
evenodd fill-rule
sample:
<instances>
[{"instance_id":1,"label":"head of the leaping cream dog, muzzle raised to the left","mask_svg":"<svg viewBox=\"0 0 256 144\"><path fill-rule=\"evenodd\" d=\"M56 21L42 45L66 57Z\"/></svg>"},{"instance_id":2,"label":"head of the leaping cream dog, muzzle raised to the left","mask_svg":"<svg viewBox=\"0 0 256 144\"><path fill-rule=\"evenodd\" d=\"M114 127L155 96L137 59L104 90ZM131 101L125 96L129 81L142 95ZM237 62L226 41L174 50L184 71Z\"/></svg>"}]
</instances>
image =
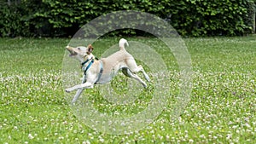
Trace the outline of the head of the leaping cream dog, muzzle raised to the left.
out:
<instances>
[{"instance_id":1,"label":"head of the leaping cream dog, muzzle raised to the left","mask_svg":"<svg viewBox=\"0 0 256 144\"><path fill-rule=\"evenodd\" d=\"M84 61L84 59L91 59L94 57L91 54L93 50L93 47L91 46L91 44L89 44L87 47L79 46L79 47L73 48L71 46L67 46L66 48L70 53L69 56L74 57L80 60L81 62Z\"/></svg>"}]
</instances>

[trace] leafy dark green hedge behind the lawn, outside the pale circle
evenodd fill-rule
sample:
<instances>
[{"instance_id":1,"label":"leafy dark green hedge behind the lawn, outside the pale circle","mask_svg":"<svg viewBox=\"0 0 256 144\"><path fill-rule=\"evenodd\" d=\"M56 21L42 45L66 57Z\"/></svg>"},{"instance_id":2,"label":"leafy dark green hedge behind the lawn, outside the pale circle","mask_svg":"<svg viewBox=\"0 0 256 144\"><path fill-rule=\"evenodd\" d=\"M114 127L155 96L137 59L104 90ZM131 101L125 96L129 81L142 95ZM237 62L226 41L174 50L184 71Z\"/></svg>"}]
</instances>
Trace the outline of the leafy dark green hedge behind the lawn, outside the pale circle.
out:
<instances>
[{"instance_id":1,"label":"leafy dark green hedge behind the lawn, outside the pale circle","mask_svg":"<svg viewBox=\"0 0 256 144\"><path fill-rule=\"evenodd\" d=\"M160 16L183 36L252 33L255 0L0 0L1 37L67 37L88 21L118 10ZM140 35L137 31L130 34Z\"/></svg>"}]
</instances>

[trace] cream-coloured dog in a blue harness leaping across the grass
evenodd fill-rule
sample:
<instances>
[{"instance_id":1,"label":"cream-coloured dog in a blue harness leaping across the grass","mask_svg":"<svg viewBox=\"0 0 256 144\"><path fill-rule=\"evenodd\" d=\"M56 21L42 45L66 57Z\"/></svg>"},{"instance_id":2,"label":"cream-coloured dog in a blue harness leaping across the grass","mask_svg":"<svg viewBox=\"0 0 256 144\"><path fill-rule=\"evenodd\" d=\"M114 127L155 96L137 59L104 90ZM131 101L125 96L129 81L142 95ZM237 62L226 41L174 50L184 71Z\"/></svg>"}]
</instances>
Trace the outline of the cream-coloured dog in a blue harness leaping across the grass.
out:
<instances>
[{"instance_id":1,"label":"cream-coloured dog in a blue harness leaping across the grass","mask_svg":"<svg viewBox=\"0 0 256 144\"><path fill-rule=\"evenodd\" d=\"M69 56L80 61L84 72L82 84L66 89L66 92L77 89L72 103L79 99L84 89L92 89L94 84L109 83L119 70L121 70L125 76L136 79L140 84L143 84L144 88L147 88L147 84L137 76L137 72L143 72L143 76L148 82L150 82L150 78L144 71L143 66L137 66L134 57L125 50L125 44L129 46L127 40L121 38L119 40L119 51L100 60L96 60L96 57L92 55L94 48L91 44L87 47L79 46L76 48L67 46L67 50L70 53Z\"/></svg>"}]
</instances>

